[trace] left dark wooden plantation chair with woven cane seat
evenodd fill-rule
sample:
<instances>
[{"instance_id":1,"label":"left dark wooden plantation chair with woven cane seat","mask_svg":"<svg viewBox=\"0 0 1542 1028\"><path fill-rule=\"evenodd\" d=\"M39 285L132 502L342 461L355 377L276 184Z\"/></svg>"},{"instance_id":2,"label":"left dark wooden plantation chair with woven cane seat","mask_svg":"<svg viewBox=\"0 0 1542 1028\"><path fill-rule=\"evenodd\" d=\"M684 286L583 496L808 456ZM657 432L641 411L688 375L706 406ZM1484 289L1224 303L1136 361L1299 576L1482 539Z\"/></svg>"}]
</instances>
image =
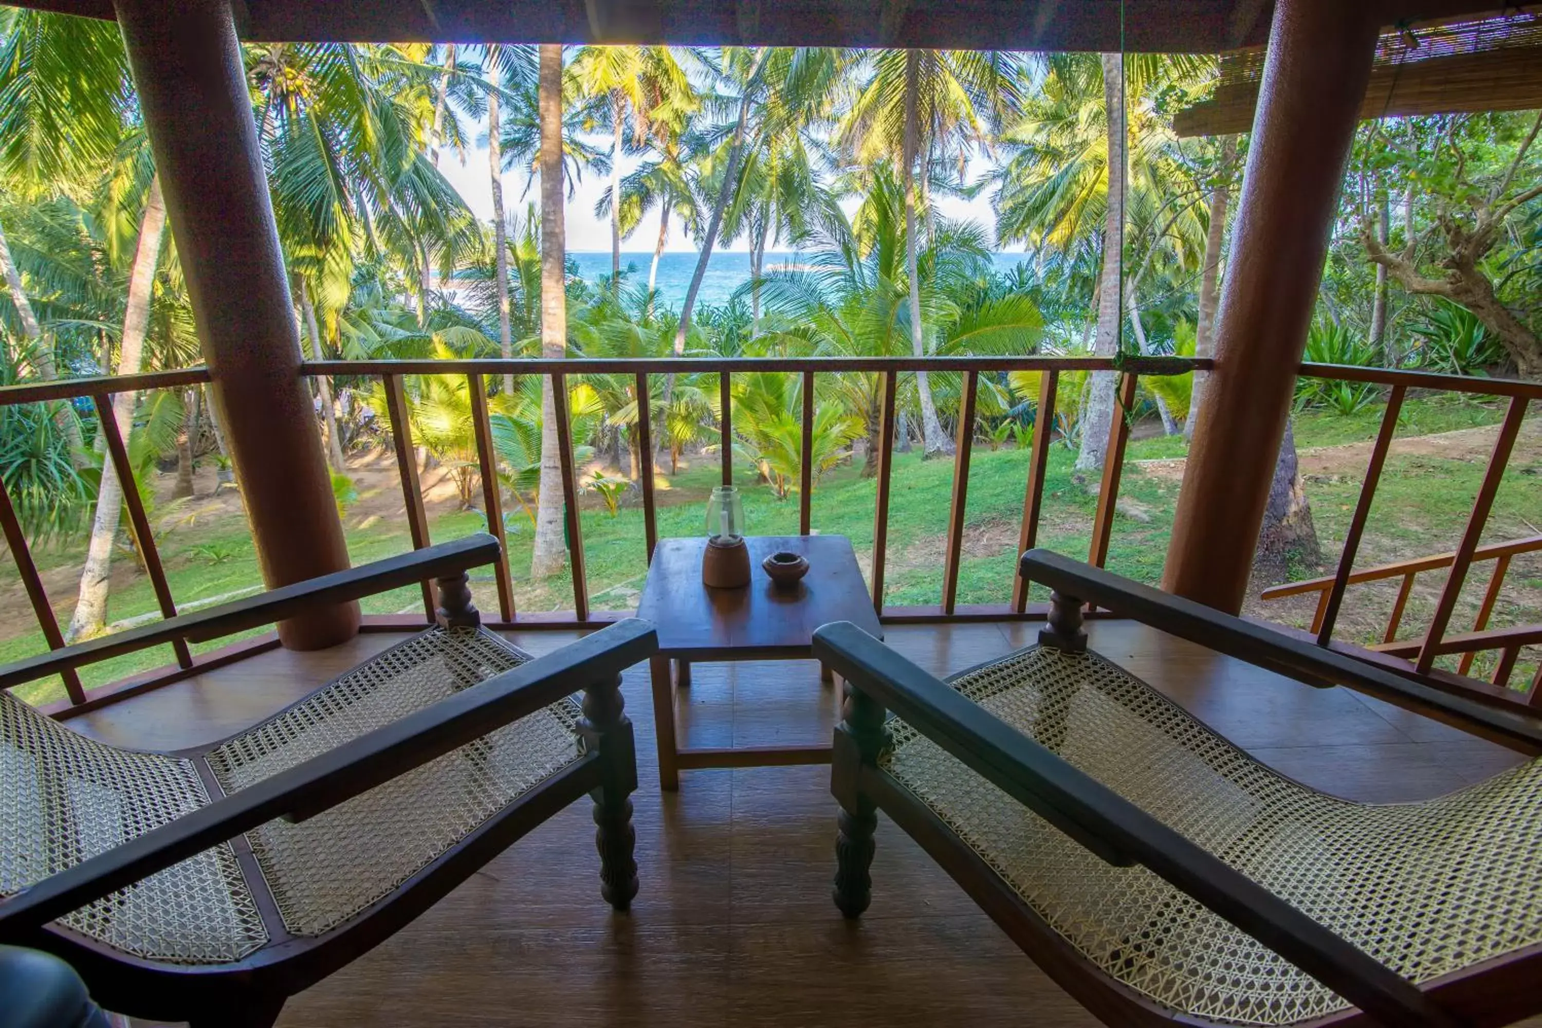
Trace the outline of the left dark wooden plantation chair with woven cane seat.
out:
<instances>
[{"instance_id":1,"label":"left dark wooden plantation chair with woven cane seat","mask_svg":"<svg viewBox=\"0 0 1542 1028\"><path fill-rule=\"evenodd\" d=\"M601 894L626 909L637 766L618 686L654 630L623 621L532 660L470 604L466 569L497 558L472 536L0 669L9 687L438 580L435 627L211 746L119 749L0 695L0 942L63 957L108 1010L271 1025L586 792Z\"/></svg>"}]
</instances>

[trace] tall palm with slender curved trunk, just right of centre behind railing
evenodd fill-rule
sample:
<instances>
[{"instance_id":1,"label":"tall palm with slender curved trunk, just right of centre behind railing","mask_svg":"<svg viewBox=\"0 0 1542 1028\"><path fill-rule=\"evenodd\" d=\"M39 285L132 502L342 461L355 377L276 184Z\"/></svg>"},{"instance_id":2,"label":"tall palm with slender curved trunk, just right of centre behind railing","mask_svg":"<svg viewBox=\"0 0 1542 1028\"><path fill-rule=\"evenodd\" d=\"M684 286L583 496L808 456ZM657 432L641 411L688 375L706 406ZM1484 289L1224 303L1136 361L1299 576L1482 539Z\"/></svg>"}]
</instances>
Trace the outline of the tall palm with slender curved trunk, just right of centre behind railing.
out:
<instances>
[{"instance_id":1,"label":"tall palm with slender curved trunk, just right of centre behind railing","mask_svg":"<svg viewBox=\"0 0 1542 1028\"><path fill-rule=\"evenodd\" d=\"M899 165L905 197L905 274L910 290L910 344L925 356L921 279L916 265L916 159L942 146L975 146L988 126L1015 106L1010 63L998 54L973 51L888 49L873 59L873 74L842 120L837 140L860 163L888 157ZM930 160L927 162L930 168ZM938 419L927 373L916 376L925 455L953 452Z\"/></svg>"}]
</instances>

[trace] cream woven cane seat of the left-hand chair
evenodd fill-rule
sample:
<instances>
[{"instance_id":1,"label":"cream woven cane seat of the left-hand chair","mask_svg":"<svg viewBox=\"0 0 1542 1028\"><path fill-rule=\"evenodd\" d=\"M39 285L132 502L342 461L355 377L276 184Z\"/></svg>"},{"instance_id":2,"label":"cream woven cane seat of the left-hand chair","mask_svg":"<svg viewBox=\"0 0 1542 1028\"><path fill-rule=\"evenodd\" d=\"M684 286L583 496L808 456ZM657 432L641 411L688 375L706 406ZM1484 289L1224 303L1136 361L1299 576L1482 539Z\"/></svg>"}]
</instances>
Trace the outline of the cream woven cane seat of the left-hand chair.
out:
<instances>
[{"instance_id":1,"label":"cream woven cane seat of the left-hand chair","mask_svg":"<svg viewBox=\"0 0 1542 1028\"><path fill-rule=\"evenodd\" d=\"M63 871L325 754L529 655L483 629L430 629L202 757L140 754L71 732L0 695L0 894ZM523 792L581 755L561 700L301 823L245 835L284 929L319 936L386 897ZM60 925L125 954L217 965L270 932L222 843Z\"/></svg>"}]
</instances>

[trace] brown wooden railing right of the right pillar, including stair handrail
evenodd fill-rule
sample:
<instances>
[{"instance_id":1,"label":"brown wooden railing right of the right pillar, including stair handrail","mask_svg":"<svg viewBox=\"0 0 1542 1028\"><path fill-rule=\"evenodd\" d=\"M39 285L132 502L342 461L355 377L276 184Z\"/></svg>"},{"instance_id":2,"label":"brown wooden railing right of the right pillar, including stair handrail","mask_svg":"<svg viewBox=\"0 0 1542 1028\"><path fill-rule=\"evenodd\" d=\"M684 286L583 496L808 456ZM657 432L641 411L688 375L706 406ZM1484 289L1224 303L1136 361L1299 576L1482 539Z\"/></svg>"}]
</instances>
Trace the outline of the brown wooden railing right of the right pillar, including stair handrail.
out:
<instances>
[{"instance_id":1,"label":"brown wooden railing right of the right pillar, including stair handrail","mask_svg":"<svg viewBox=\"0 0 1542 1028\"><path fill-rule=\"evenodd\" d=\"M1496 681L1499 684L1507 683L1514 670L1520 647L1531 644L1530 641L1523 641L1530 637L1525 630L1519 630L1517 635L1517 630L1510 629L1486 633L1485 629L1488 618L1493 613L1494 603L1499 598L1499 590L1503 584L1505 572L1510 567L1511 558L1519 553L1542 549L1542 536L1528 536L1525 539L1499 543L1486 547L1482 546L1482 536L1483 529L1488 524L1488 515L1494 506L1494 496L1499 493L1505 469L1510 464L1516 438L1520 435L1520 424L1527 416L1527 405L1531 401L1542 399L1542 384L1513 379L1468 378L1457 375L1429 375L1425 371L1362 368L1337 364L1303 364L1300 373L1309 378L1385 385L1388 387L1386 410L1382 415L1382 424L1377 432L1375 442L1371 447L1365 481L1360 485L1360 496L1355 502L1354 513L1349 518L1349 527L1345 532L1343 550L1338 555L1338 566L1334 573L1326 578L1278 586L1264 590L1261 596L1264 600L1278 600L1283 596L1317 592L1318 604L1317 612L1312 616L1312 632L1317 637L1318 646L1331 646L1334 643L1334 627L1343 607L1345 590L1351 584L1400 576L1403 583L1392 607L1392 615L1388 620L1383 646L1377 646L1375 650L1409 658L1412 661L1412 670L1417 675L1428 675L1431 669L1434 669L1436 658L1442 655L1462 653L1457 674L1465 675L1471 669L1477 652L1497 649L1502 653L1500 667L1497 669L1502 675L1496 674ZM1355 555L1359 553L1360 541L1365 535L1366 522L1371 515L1371 504L1375 499L1375 489L1386 465L1386 455L1391 450L1392 438L1397 433L1397 421L1402 415L1403 401L1406 399L1409 390L1497 396L1505 398L1508 404L1505 407L1505 416L1499 425L1499 433L1494 439L1494 448L1490 453L1482 482L1479 484L1477 495L1473 499L1473 509L1468 513L1466 526L1462 530L1462 538L1457 543L1456 550L1355 572ZM1468 572L1474 563L1486 559L1494 559L1497 564L1490 578L1482 606L1479 607L1474 630L1460 637L1448 638L1446 630L1451 627L1451 618L1456 613L1457 600L1462 595L1462 586L1466 583ZM1448 569L1446 578L1440 587L1440 596L1422 638L1417 641L1396 643L1396 633L1402 623L1408 596L1412 590L1414 576L1419 572L1437 570L1442 567ZM1391 643L1396 643L1396 646L1386 646ZM1539 678L1542 678L1542 674L1539 674ZM1533 683L1533 687L1534 686L1536 683Z\"/></svg>"}]
</instances>

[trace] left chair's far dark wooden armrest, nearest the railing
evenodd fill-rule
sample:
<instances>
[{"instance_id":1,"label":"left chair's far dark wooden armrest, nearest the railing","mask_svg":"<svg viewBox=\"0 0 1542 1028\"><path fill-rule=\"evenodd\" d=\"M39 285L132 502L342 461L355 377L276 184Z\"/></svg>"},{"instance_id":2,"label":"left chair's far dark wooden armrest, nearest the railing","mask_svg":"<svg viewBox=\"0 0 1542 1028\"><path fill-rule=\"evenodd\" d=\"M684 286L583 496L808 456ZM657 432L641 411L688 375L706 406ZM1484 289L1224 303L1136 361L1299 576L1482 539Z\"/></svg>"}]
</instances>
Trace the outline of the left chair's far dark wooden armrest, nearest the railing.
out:
<instances>
[{"instance_id":1,"label":"left chair's far dark wooden armrest, nearest the railing","mask_svg":"<svg viewBox=\"0 0 1542 1028\"><path fill-rule=\"evenodd\" d=\"M490 535L469 535L453 543L439 543L382 561L350 567L345 572L308 578L293 586L270 589L245 600L222 603L193 613L179 613L165 621L143 624L113 635L99 635L85 643L39 653L0 667L0 689L25 681L57 675L71 667L133 653L134 650L187 640L205 643L247 629L273 624L305 613L315 604L347 603L362 596L412 586L427 578L455 575L467 567L498 559L498 541Z\"/></svg>"}]
</instances>

